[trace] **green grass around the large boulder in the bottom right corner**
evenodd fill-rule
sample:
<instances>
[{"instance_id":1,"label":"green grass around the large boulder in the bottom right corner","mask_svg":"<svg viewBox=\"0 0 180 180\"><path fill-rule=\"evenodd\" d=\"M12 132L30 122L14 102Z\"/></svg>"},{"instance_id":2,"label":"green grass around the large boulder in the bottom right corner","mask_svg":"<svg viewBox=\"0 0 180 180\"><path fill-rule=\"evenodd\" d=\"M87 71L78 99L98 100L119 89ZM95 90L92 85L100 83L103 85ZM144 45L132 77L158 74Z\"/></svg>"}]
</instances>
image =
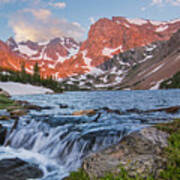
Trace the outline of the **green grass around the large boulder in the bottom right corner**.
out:
<instances>
[{"instance_id":1,"label":"green grass around the large boulder in the bottom right corner","mask_svg":"<svg viewBox=\"0 0 180 180\"><path fill-rule=\"evenodd\" d=\"M164 150L163 156L167 158L166 169L160 173L158 180L180 180L180 119L175 119L171 123L158 124L156 128L170 134L169 145ZM82 169L72 172L66 180L89 180L90 178ZM94 178L96 180L96 178ZM98 180L143 180L140 176L129 177L126 170L121 168L118 175L107 174ZM147 177L146 180L157 180Z\"/></svg>"}]
</instances>

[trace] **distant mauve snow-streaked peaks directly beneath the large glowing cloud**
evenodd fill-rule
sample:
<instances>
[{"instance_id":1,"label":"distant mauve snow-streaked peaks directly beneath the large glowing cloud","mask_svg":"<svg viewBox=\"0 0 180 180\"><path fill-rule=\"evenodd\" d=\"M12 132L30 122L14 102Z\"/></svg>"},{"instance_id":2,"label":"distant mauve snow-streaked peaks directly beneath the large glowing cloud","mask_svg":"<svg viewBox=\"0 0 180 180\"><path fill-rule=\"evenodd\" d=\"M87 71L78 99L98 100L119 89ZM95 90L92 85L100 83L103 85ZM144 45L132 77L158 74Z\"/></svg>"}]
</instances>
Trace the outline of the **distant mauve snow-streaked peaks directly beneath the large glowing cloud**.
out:
<instances>
[{"instance_id":1,"label":"distant mauve snow-streaked peaks directly beneath the large glowing cloud","mask_svg":"<svg viewBox=\"0 0 180 180\"><path fill-rule=\"evenodd\" d=\"M9 38L6 44L10 49L29 60L44 60L63 62L76 54L79 50L79 43L72 38L55 38L48 42L37 43L32 41L17 43Z\"/></svg>"}]
</instances>

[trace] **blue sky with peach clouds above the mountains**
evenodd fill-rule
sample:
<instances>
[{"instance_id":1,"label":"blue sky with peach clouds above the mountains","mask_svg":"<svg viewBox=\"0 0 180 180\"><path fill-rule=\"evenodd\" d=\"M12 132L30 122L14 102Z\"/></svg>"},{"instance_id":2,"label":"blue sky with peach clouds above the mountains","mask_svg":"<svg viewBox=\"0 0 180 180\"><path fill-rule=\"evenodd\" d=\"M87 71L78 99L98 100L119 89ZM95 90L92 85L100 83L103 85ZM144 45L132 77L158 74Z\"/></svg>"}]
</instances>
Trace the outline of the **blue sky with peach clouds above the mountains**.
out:
<instances>
[{"instance_id":1,"label":"blue sky with peach clouds above the mountains","mask_svg":"<svg viewBox=\"0 0 180 180\"><path fill-rule=\"evenodd\" d=\"M0 0L0 39L44 42L87 38L98 19L113 16L168 21L180 18L180 0Z\"/></svg>"}]
</instances>

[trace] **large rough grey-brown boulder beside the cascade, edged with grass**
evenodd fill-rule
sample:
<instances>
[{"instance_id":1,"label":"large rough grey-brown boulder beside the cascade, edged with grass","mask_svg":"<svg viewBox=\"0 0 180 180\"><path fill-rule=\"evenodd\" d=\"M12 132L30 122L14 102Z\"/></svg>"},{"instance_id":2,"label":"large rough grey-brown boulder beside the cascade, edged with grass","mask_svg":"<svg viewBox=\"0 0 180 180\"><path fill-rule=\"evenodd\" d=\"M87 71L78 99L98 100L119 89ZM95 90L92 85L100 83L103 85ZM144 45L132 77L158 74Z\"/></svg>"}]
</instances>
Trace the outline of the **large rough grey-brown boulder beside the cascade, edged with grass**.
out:
<instances>
[{"instance_id":1,"label":"large rough grey-brown boulder beside the cascade, edged with grass","mask_svg":"<svg viewBox=\"0 0 180 180\"><path fill-rule=\"evenodd\" d=\"M158 177L166 166L162 152L168 146L168 134L156 128L145 128L134 132L114 146L89 155L82 168L90 179L103 177L106 173L118 174L121 166L131 177Z\"/></svg>"}]
</instances>

